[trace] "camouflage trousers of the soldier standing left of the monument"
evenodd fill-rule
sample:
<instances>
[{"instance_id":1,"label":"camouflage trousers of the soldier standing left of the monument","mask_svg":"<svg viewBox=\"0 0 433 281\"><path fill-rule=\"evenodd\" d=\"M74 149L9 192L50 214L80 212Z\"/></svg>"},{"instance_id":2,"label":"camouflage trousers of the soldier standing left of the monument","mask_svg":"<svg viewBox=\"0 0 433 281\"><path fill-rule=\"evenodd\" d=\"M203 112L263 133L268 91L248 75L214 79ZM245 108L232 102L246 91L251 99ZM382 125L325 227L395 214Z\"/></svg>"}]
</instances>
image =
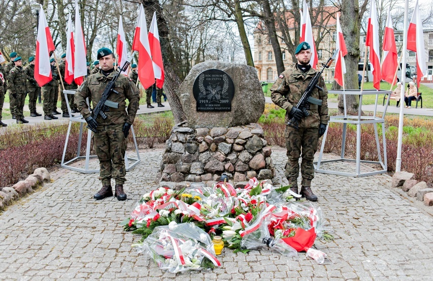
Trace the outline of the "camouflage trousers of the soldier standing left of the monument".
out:
<instances>
[{"instance_id":1,"label":"camouflage trousers of the soldier standing left of the monument","mask_svg":"<svg viewBox=\"0 0 433 281\"><path fill-rule=\"evenodd\" d=\"M122 132L123 124L99 125L93 135L96 155L99 159L99 180L102 185L110 185L111 178L116 184L126 181L125 152L127 139Z\"/></svg>"}]
</instances>

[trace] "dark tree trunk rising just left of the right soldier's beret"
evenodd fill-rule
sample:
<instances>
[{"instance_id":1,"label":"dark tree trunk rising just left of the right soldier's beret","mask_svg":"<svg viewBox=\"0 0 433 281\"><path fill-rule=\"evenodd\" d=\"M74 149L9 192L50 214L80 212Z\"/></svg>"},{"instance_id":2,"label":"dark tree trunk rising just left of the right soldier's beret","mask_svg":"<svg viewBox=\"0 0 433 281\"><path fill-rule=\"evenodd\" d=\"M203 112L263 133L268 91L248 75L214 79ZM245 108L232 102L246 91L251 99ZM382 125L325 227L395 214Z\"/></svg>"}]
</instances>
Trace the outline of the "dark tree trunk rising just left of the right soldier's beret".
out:
<instances>
[{"instance_id":1,"label":"dark tree trunk rising just left of the right soldier's beret","mask_svg":"<svg viewBox=\"0 0 433 281\"><path fill-rule=\"evenodd\" d=\"M275 57L275 64L277 64L277 72L282 73L284 72L284 63L283 63L283 56L281 54L280 42L278 41L278 37L277 37L277 29L275 27L274 15L270 10L270 5L268 0L261 1L261 4L263 7L263 14L264 14L263 21L266 25L266 29L268 30L268 36Z\"/></svg>"}]
</instances>

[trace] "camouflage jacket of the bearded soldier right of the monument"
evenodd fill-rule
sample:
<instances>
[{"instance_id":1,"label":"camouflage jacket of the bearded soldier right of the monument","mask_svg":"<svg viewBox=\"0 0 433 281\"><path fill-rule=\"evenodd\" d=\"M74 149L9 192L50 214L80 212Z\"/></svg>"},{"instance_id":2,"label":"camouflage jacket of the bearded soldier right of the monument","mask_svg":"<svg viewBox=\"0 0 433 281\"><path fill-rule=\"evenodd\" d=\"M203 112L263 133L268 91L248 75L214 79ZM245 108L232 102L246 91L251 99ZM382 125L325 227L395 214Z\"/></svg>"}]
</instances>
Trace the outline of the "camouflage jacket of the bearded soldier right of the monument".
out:
<instances>
[{"instance_id":1,"label":"camouflage jacket of the bearded soldier right of the monument","mask_svg":"<svg viewBox=\"0 0 433 281\"><path fill-rule=\"evenodd\" d=\"M308 83L316 75L317 71L310 68L306 73L300 71L296 66L280 74L277 81L270 88L272 102L286 110L286 122L289 121L289 112L296 106L302 97ZM319 124L328 124L328 89L325 81L321 77L318 85L323 88L319 91L314 88L312 97L322 100L322 106L310 104L308 117L302 118L299 127L318 128Z\"/></svg>"}]
</instances>

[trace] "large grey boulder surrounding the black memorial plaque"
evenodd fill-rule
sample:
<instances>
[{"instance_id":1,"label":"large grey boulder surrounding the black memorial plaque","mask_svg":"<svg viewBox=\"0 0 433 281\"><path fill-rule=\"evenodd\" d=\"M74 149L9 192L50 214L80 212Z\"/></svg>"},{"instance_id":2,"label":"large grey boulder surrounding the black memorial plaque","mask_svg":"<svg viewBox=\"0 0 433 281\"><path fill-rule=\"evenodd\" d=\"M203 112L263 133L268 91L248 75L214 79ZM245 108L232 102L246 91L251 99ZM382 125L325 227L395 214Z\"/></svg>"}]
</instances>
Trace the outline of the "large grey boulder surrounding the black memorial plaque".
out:
<instances>
[{"instance_id":1,"label":"large grey boulder surrounding the black memorial plaque","mask_svg":"<svg viewBox=\"0 0 433 281\"><path fill-rule=\"evenodd\" d=\"M220 69L233 80L234 96L231 101L231 111L196 111L192 86L195 79L208 69ZM262 115L265 105L263 91L254 67L219 61L206 61L194 65L180 85L178 96L188 126L192 128L228 128L255 123Z\"/></svg>"}]
</instances>

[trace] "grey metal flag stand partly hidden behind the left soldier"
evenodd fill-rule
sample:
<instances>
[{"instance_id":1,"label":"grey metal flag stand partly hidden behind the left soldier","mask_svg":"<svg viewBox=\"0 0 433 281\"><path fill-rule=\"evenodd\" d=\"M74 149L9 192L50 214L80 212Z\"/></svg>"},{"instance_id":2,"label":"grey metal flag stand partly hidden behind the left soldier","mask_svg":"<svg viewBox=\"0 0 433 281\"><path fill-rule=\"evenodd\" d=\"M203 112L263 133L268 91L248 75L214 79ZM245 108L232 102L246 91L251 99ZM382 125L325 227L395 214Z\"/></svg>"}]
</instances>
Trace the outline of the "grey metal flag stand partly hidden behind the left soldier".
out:
<instances>
[{"instance_id":1,"label":"grey metal flag stand partly hidden behind the left soldier","mask_svg":"<svg viewBox=\"0 0 433 281\"><path fill-rule=\"evenodd\" d=\"M81 146L82 146L81 139L83 136L83 128L84 128L84 125L87 124L87 122L86 122L86 120L84 120L84 118L81 114L78 114L78 115L72 117L72 113L71 113L71 109L69 107L69 100L68 100L67 95L75 95L75 90L63 90L63 95L65 95L66 106L68 108L69 125L68 125L68 132L66 134L65 146L63 148L63 155L62 155L62 161L60 163L60 166L62 168L65 168L65 169L69 169L69 170L73 170L73 171L77 171L77 172L81 172L81 173L99 173L99 169L89 169L90 159L97 157L96 155L90 155L90 142L92 140L92 131L91 130L88 130L88 133L87 133L86 155L84 155L84 156L80 155L81 154ZM90 110L89 100L86 99L86 102L87 102L87 105L88 105L89 110ZM80 134L78 135L78 146L77 146L76 156L74 158L72 158L71 160L65 162L65 155L66 155L66 150L67 150L67 146L68 146L68 140L69 140L69 134L70 134L72 122L80 122ZM134 132L133 126L131 126L131 132L132 132L132 138L134 140L135 152L137 154L137 157L136 158L135 157L128 157L127 153L125 152L125 168L127 171L130 171L132 168L134 168L141 161L140 154L138 152L137 139L135 138L135 132ZM70 164L72 164L73 162L75 162L77 160L81 160L81 159L85 159L84 168L70 166Z\"/></svg>"}]
</instances>

